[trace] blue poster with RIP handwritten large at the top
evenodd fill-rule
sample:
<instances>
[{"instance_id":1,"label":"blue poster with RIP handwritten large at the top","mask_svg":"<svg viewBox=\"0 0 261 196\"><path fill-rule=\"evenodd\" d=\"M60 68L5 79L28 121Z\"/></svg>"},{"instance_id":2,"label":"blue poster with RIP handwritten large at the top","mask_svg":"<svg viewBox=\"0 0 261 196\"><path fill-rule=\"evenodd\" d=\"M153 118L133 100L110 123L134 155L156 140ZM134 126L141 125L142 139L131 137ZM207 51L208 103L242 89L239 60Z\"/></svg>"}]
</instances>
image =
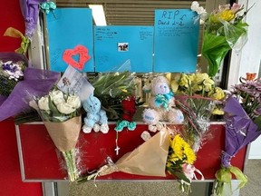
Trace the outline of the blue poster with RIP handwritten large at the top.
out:
<instances>
[{"instance_id":1,"label":"blue poster with RIP handwritten large at the top","mask_svg":"<svg viewBox=\"0 0 261 196\"><path fill-rule=\"evenodd\" d=\"M194 73L197 67L199 20L190 9L155 10L155 73Z\"/></svg>"}]
</instances>

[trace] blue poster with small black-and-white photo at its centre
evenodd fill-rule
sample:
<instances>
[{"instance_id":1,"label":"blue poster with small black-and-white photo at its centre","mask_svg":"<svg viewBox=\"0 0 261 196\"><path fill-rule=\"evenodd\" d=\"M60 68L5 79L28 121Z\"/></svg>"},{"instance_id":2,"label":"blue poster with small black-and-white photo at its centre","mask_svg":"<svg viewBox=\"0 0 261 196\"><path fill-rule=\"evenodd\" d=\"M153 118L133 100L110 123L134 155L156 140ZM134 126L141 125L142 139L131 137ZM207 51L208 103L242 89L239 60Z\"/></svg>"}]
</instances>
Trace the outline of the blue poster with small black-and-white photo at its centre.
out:
<instances>
[{"instance_id":1,"label":"blue poster with small black-and-white photo at its centre","mask_svg":"<svg viewBox=\"0 0 261 196\"><path fill-rule=\"evenodd\" d=\"M152 72L153 26L95 26L95 72L109 72L126 61L131 72Z\"/></svg>"}]
</instances>

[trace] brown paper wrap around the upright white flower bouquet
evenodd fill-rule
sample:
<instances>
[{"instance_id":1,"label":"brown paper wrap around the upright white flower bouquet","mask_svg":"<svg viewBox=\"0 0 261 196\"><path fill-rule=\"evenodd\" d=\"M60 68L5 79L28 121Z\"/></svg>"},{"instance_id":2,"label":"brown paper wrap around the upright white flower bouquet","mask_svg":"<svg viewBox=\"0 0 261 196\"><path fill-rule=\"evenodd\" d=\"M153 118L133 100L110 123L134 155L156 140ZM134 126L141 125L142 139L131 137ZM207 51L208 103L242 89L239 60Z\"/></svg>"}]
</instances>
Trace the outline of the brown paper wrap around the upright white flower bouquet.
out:
<instances>
[{"instance_id":1,"label":"brown paper wrap around the upright white flower bouquet","mask_svg":"<svg viewBox=\"0 0 261 196\"><path fill-rule=\"evenodd\" d=\"M66 122L43 122L54 145L60 152L75 148L82 127L82 117L77 116Z\"/></svg>"}]
</instances>

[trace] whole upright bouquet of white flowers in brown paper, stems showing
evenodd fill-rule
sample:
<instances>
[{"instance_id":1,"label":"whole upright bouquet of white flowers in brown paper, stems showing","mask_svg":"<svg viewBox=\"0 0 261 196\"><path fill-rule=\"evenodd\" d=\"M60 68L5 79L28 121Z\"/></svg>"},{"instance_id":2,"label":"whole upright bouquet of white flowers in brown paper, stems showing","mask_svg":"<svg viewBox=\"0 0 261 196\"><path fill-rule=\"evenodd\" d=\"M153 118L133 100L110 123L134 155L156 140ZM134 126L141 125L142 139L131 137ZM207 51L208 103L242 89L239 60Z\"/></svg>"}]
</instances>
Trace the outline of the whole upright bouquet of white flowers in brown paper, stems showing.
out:
<instances>
[{"instance_id":1,"label":"whole upright bouquet of white flowers in brown paper, stems showing","mask_svg":"<svg viewBox=\"0 0 261 196\"><path fill-rule=\"evenodd\" d=\"M36 101L36 102L34 102ZM82 128L81 100L73 93L54 88L35 98L31 105L37 109L56 148L62 152L69 181L79 178L76 144ZM36 107L34 105L36 104Z\"/></svg>"}]
</instances>

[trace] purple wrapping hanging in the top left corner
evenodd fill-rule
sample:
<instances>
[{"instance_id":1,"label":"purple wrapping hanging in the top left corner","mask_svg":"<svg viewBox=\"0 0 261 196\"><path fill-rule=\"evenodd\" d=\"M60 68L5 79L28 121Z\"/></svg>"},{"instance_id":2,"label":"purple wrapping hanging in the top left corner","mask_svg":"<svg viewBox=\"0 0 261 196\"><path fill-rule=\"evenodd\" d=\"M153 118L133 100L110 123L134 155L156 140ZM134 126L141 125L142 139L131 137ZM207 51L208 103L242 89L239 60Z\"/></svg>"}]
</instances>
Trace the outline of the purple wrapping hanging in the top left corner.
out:
<instances>
[{"instance_id":1,"label":"purple wrapping hanging in the top left corner","mask_svg":"<svg viewBox=\"0 0 261 196\"><path fill-rule=\"evenodd\" d=\"M37 24L40 3L47 0L20 0L20 7L25 22L25 36L32 40L34 29Z\"/></svg>"}]
</instances>

